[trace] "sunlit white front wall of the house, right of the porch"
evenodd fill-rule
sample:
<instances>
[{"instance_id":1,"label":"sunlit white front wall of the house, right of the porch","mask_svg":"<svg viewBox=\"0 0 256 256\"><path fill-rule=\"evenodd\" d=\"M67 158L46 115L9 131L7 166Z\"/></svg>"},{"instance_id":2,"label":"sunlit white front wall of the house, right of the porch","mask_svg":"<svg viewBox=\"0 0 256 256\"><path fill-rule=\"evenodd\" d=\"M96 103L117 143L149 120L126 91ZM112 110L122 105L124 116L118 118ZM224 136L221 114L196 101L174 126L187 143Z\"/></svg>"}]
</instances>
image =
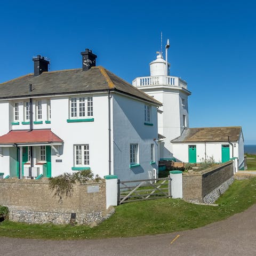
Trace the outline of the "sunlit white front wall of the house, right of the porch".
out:
<instances>
[{"instance_id":1,"label":"sunlit white front wall of the house, right of the porch","mask_svg":"<svg viewBox=\"0 0 256 256\"><path fill-rule=\"evenodd\" d=\"M56 135L63 141L60 156L52 150L52 176L63 172L74 172L74 145L89 144L90 164L94 174L101 178L108 175L108 97L93 95L94 122L67 123L69 119L68 97L51 99L51 124ZM62 162L56 162L61 159Z\"/></svg>"}]
</instances>

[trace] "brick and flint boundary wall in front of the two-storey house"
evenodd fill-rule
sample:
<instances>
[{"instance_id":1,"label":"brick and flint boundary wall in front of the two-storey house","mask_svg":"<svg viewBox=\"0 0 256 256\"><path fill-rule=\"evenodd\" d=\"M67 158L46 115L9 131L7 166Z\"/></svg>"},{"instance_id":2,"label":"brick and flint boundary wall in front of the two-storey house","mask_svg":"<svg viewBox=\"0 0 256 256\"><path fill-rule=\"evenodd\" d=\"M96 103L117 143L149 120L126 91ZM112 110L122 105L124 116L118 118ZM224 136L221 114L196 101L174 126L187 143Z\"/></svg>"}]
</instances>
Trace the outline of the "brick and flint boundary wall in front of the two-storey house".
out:
<instances>
[{"instance_id":1,"label":"brick and flint boundary wall in front of the two-storey house","mask_svg":"<svg viewBox=\"0 0 256 256\"><path fill-rule=\"evenodd\" d=\"M106 183L75 185L62 202L49 189L48 180L0 180L0 205L9 207L10 220L28 223L69 223L71 213L79 224L100 222L106 211Z\"/></svg>"}]
</instances>

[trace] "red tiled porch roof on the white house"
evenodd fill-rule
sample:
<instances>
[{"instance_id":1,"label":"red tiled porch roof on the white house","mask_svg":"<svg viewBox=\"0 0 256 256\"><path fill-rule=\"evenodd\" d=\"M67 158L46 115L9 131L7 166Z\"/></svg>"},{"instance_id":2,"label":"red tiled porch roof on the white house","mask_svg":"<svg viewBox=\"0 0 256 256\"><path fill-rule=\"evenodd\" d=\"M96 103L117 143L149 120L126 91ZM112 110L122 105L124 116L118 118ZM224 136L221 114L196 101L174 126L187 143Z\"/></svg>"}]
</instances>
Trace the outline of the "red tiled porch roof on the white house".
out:
<instances>
[{"instance_id":1,"label":"red tiled porch roof on the white house","mask_svg":"<svg viewBox=\"0 0 256 256\"><path fill-rule=\"evenodd\" d=\"M63 142L51 129L12 130L0 137L0 144Z\"/></svg>"}]
</instances>

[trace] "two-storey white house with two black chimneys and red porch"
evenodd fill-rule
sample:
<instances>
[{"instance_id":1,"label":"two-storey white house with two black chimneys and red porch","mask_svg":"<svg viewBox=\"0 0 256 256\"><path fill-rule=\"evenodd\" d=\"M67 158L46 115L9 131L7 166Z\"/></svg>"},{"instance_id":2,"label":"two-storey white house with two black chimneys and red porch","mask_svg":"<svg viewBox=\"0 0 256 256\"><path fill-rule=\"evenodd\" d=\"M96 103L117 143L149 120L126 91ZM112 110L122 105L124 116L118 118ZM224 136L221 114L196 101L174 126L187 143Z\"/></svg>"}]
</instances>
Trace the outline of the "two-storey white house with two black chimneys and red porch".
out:
<instances>
[{"instance_id":1,"label":"two-storey white house with two black chimneys and red porch","mask_svg":"<svg viewBox=\"0 0 256 256\"><path fill-rule=\"evenodd\" d=\"M100 177L149 178L157 170L161 103L82 52L83 68L48 71L0 84L0 173L5 178L54 177L91 169Z\"/></svg>"}]
</instances>

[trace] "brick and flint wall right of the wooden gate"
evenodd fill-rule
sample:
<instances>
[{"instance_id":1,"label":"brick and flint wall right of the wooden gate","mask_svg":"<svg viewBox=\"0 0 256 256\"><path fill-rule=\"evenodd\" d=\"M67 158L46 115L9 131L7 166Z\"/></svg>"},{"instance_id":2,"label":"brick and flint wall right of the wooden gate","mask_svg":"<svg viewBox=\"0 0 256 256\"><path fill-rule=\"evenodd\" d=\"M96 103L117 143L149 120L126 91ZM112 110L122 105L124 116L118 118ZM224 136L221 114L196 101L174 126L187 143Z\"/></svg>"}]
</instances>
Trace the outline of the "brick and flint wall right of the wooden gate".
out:
<instances>
[{"instance_id":1,"label":"brick and flint wall right of the wooden gate","mask_svg":"<svg viewBox=\"0 0 256 256\"><path fill-rule=\"evenodd\" d=\"M183 199L190 202L213 203L233 181L233 161L203 171L183 173Z\"/></svg>"}]
</instances>

